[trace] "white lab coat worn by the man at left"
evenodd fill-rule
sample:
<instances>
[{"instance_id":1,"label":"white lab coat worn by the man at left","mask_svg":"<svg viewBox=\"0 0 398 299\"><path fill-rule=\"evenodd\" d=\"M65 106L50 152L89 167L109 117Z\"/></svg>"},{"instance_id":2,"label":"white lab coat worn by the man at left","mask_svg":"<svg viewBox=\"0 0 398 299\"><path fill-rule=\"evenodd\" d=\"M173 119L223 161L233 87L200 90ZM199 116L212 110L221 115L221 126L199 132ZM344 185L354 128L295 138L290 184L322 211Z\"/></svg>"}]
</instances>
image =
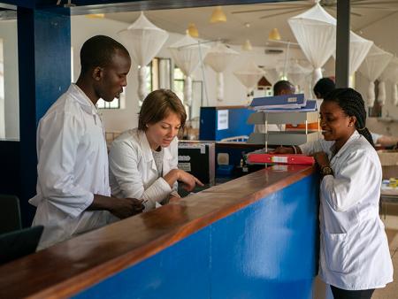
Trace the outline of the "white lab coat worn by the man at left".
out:
<instances>
[{"instance_id":1,"label":"white lab coat worn by the man at left","mask_svg":"<svg viewBox=\"0 0 398 299\"><path fill-rule=\"evenodd\" d=\"M33 226L44 231L38 249L107 223L108 211L85 211L94 194L110 196L103 123L96 106L72 84L37 129L37 207Z\"/></svg>"}]
</instances>

